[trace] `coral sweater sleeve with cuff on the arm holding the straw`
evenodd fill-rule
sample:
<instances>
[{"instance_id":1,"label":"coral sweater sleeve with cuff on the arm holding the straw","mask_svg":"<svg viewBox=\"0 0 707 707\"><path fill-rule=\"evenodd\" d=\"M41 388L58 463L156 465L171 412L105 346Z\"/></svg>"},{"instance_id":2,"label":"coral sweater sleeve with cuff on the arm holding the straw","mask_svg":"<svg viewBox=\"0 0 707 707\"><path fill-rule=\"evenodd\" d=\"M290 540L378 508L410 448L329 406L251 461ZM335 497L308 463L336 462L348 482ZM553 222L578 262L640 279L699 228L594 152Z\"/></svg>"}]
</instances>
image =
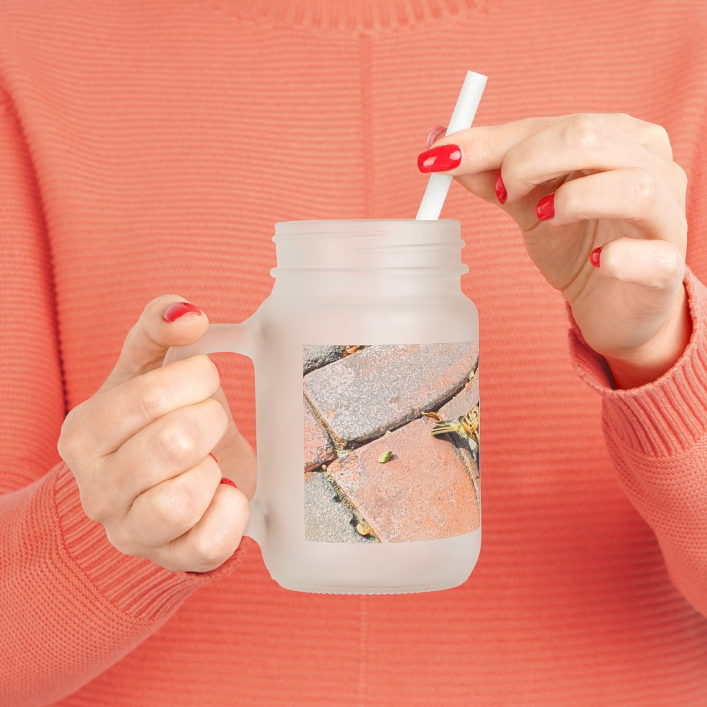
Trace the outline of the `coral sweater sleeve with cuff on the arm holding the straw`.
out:
<instances>
[{"instance_id":1,"label":"coral sweater sleeve with cuff on the arm holding the straw","mask_svg":"<svg viewBox=\"0 0 707 707\"><path fill-rule=\"evenodd\" d=\"M603 397L603 431L626 495L653 528L670 576L707 616L707 289L690 271L693 332L661 378L613 390L604 359L573 323L571 353Z\"/></svg>"}]
</instances>

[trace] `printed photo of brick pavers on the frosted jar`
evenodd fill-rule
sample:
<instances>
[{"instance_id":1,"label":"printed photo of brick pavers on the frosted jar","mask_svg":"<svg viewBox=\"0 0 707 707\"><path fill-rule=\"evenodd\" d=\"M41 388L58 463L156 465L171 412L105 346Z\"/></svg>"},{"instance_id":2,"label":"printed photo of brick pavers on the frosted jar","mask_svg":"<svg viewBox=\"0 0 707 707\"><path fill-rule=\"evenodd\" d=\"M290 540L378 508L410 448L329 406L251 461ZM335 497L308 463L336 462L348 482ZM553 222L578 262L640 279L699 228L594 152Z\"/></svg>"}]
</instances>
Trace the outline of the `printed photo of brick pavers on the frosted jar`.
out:
<instances>
[{"instance_id":1,"label":"printed photo of brick pavers on the frosted jar","mask_svg":"<svg viewBox=\"0 0 707 707\"><path fill-rule=\"evenodd\" d=\"M312 369L305 347L306 539L479 527L477 342L329 348L339 358Z\"/></svg>"}]
</instances>

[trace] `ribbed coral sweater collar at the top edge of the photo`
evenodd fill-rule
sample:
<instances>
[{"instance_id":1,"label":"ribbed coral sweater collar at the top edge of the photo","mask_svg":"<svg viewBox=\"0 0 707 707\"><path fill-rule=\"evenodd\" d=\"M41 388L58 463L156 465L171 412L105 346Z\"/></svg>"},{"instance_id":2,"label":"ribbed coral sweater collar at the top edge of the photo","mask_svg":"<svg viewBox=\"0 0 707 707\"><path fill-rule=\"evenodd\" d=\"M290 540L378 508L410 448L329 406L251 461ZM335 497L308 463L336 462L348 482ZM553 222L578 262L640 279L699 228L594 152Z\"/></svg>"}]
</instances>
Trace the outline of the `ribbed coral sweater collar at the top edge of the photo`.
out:
<instances>
[{"instance_id":1,"label":"ribbed coral sweater collar at the top edge of the photo","mask_svg":"<svg viewBox=\"0 0 707 707\"><path fill-rule=\"evenodd\" d=\"M298 28L371 31L440 21L488 0L222 0L243 20Z\"/></svg>"}]
</instances>

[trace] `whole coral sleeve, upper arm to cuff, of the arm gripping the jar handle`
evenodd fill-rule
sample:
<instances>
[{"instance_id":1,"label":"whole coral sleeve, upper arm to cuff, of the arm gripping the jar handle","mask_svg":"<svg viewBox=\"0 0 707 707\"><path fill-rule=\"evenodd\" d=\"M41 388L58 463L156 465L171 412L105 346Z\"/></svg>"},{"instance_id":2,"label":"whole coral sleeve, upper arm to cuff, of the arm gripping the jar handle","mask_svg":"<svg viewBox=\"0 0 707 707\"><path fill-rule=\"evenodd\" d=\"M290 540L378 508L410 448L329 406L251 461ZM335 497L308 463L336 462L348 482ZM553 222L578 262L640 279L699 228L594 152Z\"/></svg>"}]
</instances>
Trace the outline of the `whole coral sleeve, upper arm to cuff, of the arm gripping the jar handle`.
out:
<instances>
[{"instance_id":1,"label":"whole coral sleeve, upper arm to cuff, of the arm gripping the jar handle","mask_svg":"<svg viewBox=\"0 0 707 707\"><path fill-rule=\"evenodd\" d=\"M0 702L71 694L144 641L204 575L116 551L59 459L65 414L52 261L21 121L0 92Z\"/></svg>"}]
</instances>

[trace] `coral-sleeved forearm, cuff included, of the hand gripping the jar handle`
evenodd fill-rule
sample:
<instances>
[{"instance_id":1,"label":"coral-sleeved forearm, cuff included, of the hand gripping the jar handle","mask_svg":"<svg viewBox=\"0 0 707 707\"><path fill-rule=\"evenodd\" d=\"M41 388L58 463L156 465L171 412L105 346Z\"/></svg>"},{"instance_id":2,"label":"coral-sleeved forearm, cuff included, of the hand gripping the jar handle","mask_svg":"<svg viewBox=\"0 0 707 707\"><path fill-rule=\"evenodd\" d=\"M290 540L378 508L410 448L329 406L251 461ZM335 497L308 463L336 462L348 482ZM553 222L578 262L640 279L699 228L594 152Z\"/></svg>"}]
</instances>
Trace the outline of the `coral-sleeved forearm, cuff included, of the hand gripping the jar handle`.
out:
<instances>
[{"instance_id":1,"label":"coral-sleeved forearm, cuff included, of the hand gripping the jar handle","mask_svg":"<svg viewBox=\"0 0 707 707\"><path fill-rule=\"evenodd\" d=\"M73 693L238 561L192 575L120 554L64 464L0 497L0 544L0 695L15 707Z\"/></svg>"}]
</instances>

